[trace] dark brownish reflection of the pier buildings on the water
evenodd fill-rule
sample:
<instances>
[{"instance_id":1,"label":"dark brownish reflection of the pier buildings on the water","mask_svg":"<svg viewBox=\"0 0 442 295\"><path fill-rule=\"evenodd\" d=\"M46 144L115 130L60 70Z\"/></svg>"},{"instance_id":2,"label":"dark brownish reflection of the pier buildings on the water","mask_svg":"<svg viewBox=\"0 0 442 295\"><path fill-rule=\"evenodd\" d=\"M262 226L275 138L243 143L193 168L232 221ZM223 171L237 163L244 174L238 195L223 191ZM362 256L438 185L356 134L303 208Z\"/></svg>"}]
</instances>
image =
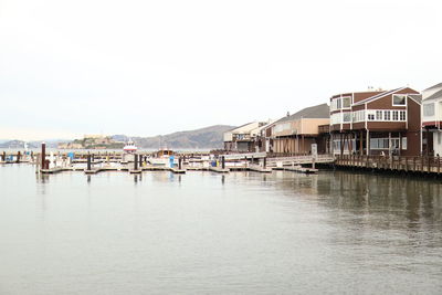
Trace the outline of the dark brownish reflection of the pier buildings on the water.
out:
<instances>
[{"instance_id":1,"label":"dark brownish reflection of the pier buildings on the water","mask_svg":"<svg viewBox=\"0 0 442 295\"><path fill-rule=\"evenodd\" d=\"M285 181L276 181L276 186L355 214L400 215L410 228L422 220L441 221L442 185L434 180L335 171L309 177L285 176ZM381 225L382 221L378 223Z\"/></svg>"}]
</instances>

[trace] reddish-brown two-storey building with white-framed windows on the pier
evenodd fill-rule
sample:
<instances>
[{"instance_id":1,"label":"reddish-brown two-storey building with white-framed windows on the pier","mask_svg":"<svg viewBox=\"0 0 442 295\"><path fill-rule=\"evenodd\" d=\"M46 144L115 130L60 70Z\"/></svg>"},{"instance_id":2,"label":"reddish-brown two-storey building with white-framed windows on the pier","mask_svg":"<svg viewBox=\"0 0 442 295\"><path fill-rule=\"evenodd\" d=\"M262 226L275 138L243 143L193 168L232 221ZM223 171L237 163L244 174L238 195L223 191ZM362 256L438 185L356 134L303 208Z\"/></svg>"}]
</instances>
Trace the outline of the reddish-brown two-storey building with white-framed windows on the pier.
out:
<instances>
[{"instance_id":1,"label":"reddish-brown two-storey building with white-framed windows on the pier","mask_svg":"<svg viewBox=\"0 0 442 295\"><path fill-rule=\"evenodd\" d=\"M410 87L332 96L332 152L419 156L421 98Z\"/></svg>"}]
</instances>

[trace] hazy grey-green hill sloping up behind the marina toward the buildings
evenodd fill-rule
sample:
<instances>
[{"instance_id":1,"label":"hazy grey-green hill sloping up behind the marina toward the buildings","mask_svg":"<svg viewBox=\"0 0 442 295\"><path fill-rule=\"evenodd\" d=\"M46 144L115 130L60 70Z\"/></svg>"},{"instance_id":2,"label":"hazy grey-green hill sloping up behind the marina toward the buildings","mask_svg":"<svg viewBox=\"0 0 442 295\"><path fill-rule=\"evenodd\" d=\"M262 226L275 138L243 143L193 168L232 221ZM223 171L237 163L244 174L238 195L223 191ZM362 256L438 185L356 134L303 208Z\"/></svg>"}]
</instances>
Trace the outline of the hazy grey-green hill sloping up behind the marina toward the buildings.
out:
<instances>
[{"instance_id":1,"label":"hazy grey-green hill sloping up behind the marina toward the buildings","mask_svg":"<svg viewBox=\"0 0 442 295\"><path fill-rule=\"evenodd\" d=\"M139 148L171 148L171 149L217 149L223 147L223 133L234 128L228 125L214 125L196 130L178 131L154 137L130 137ZM125 135L114 135L113 139L127 141Z\"/></svg>"}]
</instances>

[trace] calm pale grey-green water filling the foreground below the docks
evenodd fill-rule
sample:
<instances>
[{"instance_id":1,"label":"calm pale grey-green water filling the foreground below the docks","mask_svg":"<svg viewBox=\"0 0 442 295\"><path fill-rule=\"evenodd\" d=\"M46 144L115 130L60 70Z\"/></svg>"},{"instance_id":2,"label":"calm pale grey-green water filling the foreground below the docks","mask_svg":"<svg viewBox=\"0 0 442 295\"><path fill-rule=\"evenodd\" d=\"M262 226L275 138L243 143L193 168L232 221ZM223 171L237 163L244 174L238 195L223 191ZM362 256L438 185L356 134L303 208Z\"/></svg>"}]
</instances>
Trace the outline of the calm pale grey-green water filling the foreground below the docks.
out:
<instances>
[{"instance_id":1,"label":"calm pale grey-green water filling the foreground below the docks","mask_svg":"<svg viewBox=\"0 0 442 295\"><path fill-rule=\"evenodd\" d=\"M0 294L442 293L442 182L0 167Z\"/></svg>"}]
</instances>

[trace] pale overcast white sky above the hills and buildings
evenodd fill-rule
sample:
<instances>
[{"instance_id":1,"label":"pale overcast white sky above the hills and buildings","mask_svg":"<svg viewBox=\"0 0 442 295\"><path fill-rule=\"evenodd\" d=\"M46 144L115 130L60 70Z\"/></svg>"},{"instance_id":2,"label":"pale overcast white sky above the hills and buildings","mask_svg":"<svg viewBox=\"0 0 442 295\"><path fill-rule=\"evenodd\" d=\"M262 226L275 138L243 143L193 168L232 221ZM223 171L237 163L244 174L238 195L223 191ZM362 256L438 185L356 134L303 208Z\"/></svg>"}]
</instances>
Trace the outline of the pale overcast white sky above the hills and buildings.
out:
<instances>
[{"instance_id":1,"label":"pale overcast white sky above the hills and buildings","mask_svg":"<svg viewBox=\"0 0 442 295\"><path fill-rule=\"evenodd\" d=\"M155 136L442 82L442 1L0 0L0 139Z\"/></svg>"}]
</instances>

